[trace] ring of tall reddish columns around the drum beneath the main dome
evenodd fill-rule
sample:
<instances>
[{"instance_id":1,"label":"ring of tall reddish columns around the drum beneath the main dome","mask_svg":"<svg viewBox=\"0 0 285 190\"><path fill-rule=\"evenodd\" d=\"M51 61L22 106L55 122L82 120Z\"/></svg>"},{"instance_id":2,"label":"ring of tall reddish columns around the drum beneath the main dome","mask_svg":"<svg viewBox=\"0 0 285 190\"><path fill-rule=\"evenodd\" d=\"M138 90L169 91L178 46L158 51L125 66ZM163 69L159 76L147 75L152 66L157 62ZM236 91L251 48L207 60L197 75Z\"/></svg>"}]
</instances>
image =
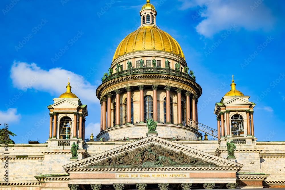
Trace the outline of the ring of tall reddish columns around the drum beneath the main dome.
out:
<instances>
[{"instance_id":1,"label":"ring of tall reddish columns around the drum beneath the main dome","mask_svg":"<svg viewBox=\"0 0 285 190\"><path fill-rule=\"evenodd\" d=\"M138 85L139 88L139 123L144 123L144 85ZM171 86L165 86L164 90L166 91L166 124L170 124L170 90ZM157 122L157 89L158 85L152 85L152 93L153 93L153 120ZM127 124L131 124L131 86L125 87L127 92ZM178 125L182 125L182 111L181 111L181 88L177 88L177 118L178 118ZM120 102L120 94L122 93L121 90L116 89L114 90L116 94L116 102ZM106 97L102 97L100 104L101 104L101 131L106 130L107 128L112 127L111 121L111 97L113 94L110 92L106 94ZM197 97L191 94L190 91L185 93L186 96L186 123L190 122L190 113L192 110L192 120L197 121L198 111L197 111ZM190 108L191 106L191 108ZM120 126L120 106L119 104L116 106L116 118L115 118L115 127ZM107 112L107 114L106 114Z\"/></svg>"}]
</instances>

